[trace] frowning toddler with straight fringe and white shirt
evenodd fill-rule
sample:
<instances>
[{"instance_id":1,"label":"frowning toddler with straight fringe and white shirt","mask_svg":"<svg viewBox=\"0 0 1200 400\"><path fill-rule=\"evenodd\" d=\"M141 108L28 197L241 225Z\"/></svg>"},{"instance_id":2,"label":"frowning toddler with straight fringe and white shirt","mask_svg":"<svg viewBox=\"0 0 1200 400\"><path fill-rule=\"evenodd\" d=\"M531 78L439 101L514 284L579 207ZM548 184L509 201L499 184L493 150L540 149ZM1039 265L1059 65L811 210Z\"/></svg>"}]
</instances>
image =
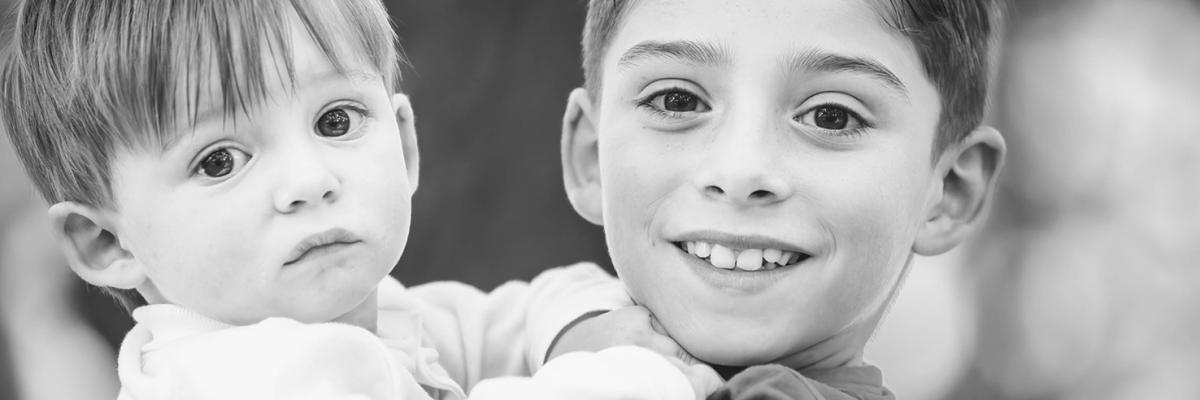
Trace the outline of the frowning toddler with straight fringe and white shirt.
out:
<instances>
[{"instance_id":1,"label":"frowning toddler with straight fringe and white shirt","mask_svg":"<svg viewBox=\"0 0 1200 400\"><path fill-rule=\"evenodd\" d=\"M588 265L388 277L418 153L379 1L26 1L16 40L5 127L72 270L137 321L121 399L457 399L628 303Z\"/></svg>"}]
</instances>

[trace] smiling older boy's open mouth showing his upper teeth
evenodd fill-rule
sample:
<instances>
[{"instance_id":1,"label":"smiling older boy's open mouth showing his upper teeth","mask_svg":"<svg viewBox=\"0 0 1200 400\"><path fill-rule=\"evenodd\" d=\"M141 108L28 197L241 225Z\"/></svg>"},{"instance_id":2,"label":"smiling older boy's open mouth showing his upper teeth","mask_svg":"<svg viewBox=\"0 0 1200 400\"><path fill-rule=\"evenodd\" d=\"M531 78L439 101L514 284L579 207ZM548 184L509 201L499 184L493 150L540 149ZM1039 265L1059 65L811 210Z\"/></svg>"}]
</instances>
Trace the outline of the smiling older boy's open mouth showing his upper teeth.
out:
<instances>
[{"instance_id":1,"label":"smiling older boy's open mouth showing his upper teeth","mask_svg":"<svg viewBox=\"0 0 1200 400\"><path fill-rule=\"evenodd\" d=\"M726 270L772 270L799 264L811 257L808 253L779 249L730 249L708 241L672 241L679 250Z\"/></svg>"}]
</instances>

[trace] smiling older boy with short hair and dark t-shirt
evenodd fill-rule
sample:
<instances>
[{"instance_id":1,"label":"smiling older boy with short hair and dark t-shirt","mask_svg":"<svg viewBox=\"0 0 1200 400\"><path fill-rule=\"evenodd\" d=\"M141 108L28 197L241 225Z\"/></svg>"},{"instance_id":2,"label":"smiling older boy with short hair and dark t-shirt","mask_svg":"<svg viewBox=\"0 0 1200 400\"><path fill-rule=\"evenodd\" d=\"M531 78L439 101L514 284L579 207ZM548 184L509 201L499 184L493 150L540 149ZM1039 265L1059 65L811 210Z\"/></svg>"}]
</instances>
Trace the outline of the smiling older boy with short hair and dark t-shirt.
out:
<instances>
[{"instance_id":1,"label":"smiling older boy with short hair and dark t-shirt","mask_svg":"<svg viewBox=\"0 0 1200 400\"><path fill-rule=\"evenodd\" d=\"M634 300L732 376L710 399L892 398L863 348L1002 166L979 125L997 8L589 2L566 192Z\"/></svg>"}]
</instances>

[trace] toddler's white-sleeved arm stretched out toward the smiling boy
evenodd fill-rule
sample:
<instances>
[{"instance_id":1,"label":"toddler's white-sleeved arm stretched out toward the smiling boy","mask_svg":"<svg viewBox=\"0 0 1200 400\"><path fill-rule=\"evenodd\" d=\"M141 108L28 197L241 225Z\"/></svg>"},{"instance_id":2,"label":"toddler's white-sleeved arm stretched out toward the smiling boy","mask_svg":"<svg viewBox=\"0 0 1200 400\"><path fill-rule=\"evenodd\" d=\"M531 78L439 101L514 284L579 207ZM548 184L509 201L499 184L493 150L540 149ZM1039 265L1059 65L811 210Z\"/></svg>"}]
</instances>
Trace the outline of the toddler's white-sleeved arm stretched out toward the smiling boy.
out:
<instances>
[{"instance_id":1,"label":"toddler's white-sleeved arm stretched out toward the smiling boy","mask_svg":"<svg viewBox=\"0 0 1200 400\"><path fill-rule=\"evenodd\" d=\"M460 282L425 283L404 292L418 300L408 304L389 294L397 292L386 283L379 291L380 318L390 305L415 308L439 364L464 389L490 377L532 375L571 322L631 304L624 285L590 263L550 269L491 293Z\"/></svg>"}]
</instances>

